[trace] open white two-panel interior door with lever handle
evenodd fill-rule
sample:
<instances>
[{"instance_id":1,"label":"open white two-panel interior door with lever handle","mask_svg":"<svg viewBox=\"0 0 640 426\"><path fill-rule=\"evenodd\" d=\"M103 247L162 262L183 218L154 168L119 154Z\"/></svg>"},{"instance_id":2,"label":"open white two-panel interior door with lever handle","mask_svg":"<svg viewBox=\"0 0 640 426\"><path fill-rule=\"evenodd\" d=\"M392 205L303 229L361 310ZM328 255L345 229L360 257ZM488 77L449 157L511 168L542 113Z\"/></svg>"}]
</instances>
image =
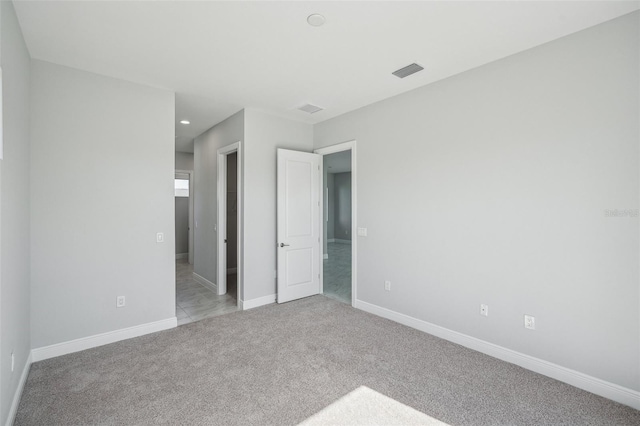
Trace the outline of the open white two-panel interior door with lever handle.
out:
<instances>
[{"instance_id":1,"label":"open white two-panel interior door with lever handle","mask_svg":"<svg viewBox=\"0 0 640 426\"><path fill-rule=\"evenodd\" d=\"M278 303L320 293L320 161L278 149Z\"/></svg>"}]
</instances>

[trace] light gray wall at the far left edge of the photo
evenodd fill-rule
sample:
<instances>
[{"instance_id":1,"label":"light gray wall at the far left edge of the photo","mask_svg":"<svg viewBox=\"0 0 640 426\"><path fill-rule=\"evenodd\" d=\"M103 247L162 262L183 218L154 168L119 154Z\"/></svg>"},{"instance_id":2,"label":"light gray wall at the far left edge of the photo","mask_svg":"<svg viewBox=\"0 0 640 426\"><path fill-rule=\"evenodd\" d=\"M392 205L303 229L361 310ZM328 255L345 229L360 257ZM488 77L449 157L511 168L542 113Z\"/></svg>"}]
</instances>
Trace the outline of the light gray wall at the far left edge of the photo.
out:
<instances>
[{"instance_id":1,"label":"light gray wall at the far left edge of the photo","mask_svg":"<svg viewBox=\"0 0 640 426\"><path fill-rule=\"evenodd\" d=\"M0 2L4 159L0 161L0 424L30 342L29 53L11 2ZM11 352L15 369L11 372Z\"/></svg>"}]
</instances>

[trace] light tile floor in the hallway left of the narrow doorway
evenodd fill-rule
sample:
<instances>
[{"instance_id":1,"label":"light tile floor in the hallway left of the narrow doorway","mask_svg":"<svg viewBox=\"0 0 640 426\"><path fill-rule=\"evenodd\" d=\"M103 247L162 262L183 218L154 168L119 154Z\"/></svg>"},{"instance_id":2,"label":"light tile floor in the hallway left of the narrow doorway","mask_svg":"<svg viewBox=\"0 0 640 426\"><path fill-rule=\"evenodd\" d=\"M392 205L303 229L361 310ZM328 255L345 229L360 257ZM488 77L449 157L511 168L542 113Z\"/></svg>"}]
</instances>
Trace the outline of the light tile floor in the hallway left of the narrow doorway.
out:
<instances>
[{"instance_id":1,"label":"light tile floor in the hallway left of the narrow doorway","mask_svg":"<svg viewBox=\"0 0 640 426\"><path fill-rule=\"evenodd\" d=\"M227 294L218 296L193 279L193 265L176 260L176 317L178 325L238 310L236 274L227 275Z\"/></svg>"}]
</instances>

